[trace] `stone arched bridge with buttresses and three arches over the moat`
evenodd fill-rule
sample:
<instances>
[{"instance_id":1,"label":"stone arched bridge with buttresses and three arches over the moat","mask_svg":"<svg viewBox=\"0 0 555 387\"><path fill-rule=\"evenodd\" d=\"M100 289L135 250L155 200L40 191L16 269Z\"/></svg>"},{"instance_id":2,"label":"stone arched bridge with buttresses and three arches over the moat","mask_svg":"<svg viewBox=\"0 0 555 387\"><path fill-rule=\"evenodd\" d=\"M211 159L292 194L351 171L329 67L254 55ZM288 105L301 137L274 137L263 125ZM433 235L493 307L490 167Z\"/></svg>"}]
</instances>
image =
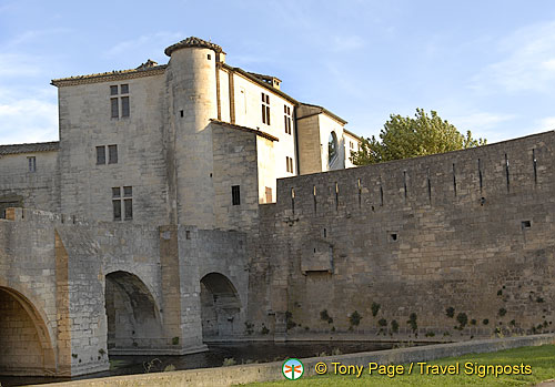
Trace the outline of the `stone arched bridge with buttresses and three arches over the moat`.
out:
<instances>
[{"instance_id":1,"label":"stone arched bridge with buttresses and three arches over the moat","mask_svg":"<svg viewBox=\"0 0 555 387\"><path fill-rule=\"evenodd\" d=\"M0 375L74 376L110 354L181 355L242 333L244 234L84 223L10 208L0 220Z\"/></svg>"}]
</instances>

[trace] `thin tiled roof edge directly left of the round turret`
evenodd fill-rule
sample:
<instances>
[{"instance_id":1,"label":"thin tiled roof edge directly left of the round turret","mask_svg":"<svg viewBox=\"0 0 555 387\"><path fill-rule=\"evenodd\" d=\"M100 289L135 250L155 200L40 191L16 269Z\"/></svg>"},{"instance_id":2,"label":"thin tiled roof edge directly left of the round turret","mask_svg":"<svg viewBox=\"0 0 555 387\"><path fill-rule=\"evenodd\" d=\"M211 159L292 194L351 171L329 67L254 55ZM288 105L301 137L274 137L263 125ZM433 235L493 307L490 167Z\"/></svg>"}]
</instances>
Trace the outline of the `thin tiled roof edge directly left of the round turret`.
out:
<instances>
[{"instance_id":1,"label":"thin tiled roof edge directly left of the round turret","mask_svg":"<svg viewBox=\"0 0 555 387\"><path fill-rule=\"evenodd\" d=\"M50 84L53 84L54 86L60 88L60 86L72 86L75 84L98 83L98 82L107 82L107 81L113 81L113 80L123 80L123 79L133 79L133 78L158 75L158 74L163 74L167 67L168 67L168 64L155 65L155 62L153 62L149 59L147 61L147 63L142 63L137 69L114 70L114 71L102 72L102 73L98 73L98 74L60 78L60 79L52 80L52 82L50 82Z\"/></svg>"}]
</instances>

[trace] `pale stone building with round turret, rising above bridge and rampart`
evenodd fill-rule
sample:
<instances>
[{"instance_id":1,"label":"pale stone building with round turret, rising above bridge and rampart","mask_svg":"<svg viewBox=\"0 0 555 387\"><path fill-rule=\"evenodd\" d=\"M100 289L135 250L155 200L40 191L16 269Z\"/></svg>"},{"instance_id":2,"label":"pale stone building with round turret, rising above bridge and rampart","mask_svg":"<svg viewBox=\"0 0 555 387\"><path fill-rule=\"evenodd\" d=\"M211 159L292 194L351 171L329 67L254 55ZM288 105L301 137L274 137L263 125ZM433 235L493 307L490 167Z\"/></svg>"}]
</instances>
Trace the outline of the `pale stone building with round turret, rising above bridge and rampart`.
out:
<instances>
[{"instance_id":1,"label":"pale stone building with round turret, rising above bridge and rampart","mask_svg":"<svg viewBox=\"0 0 555 387\"><path fill-rule=\"evenodd\" d=\"M57 79L60 141L0 146L0 211L249 230L276 180L352 166L359 138L281 80L188 38L168 64Z\"/></svg>"}]
</instances>

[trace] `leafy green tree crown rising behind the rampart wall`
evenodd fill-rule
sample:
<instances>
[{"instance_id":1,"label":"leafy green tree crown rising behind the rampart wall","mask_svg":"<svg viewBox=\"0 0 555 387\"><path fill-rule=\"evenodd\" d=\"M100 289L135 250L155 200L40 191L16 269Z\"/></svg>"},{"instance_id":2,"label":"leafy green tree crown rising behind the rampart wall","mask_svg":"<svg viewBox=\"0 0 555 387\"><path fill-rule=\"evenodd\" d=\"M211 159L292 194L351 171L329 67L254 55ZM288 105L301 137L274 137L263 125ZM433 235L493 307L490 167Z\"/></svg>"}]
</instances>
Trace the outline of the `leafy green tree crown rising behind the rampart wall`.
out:
<instances>
[{"instance_id":1,"label":"leafy green tree crown rising behind the rampart wall","mask_svg":"<svg viewBox=\"0 0 555 387\"><path fill-rule=\"evenodd\" d=\"M424 109L416 109L414 118L390 115L390 120L380 132L380 141L375 136L363 139L359 152L351 153L355 165L367 165L384 161L444 153L467 147L484 145L485 139L473 139L471 131L466 135L442 120L437 112L430 115Z\"/></svg>"}]
</instances>

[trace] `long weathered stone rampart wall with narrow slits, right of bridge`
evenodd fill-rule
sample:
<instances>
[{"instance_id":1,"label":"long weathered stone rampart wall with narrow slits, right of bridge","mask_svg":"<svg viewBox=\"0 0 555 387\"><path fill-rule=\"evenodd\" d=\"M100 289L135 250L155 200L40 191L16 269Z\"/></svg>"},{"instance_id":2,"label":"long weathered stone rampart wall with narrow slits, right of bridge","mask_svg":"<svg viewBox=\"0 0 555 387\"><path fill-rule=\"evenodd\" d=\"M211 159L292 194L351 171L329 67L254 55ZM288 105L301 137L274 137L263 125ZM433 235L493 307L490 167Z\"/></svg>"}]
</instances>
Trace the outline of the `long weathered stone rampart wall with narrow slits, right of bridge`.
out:
<instances>
[{"instance_id":1,"label":"long weathered stone rampart wall with narrow slits, right of bridge","mask_svg":"<svg viewBox=\"0 0 555 387\"><path fill-rule=\"evenodd\" d=\"M333 317L334 332L389 333L391 320L396 319L400 332L410 334L405 322L411 313L417 316L417 332L450 337L460 335L453 329L458 313L476 320L476 325L466 323L464 335L493 334L496 328L504 333L551 329L538 325L548 324L553 310L524 292L532 282L542 288L542 296L534 299L555 294L546 276L554 249L549 237L554 140L548 132L466 151L279 180L275 211L261 218L261 224L273 223L261 228L261 240L272 237L269 245L274 247L266 248L275 263L268 288L278 297L270 305L278 313L289 312L291 322L310 332L332 329L320 320L322 309ZM332 246L332 269L324 267L325 255L317 248L326 244ZM316 246L312 256L307 255L311 245ZM523 276L515 279L515 273ZM511 291L503 288L507 285ZM500 289L508 293L497 296ZM372 303L382 305L375 317ZM450 306L456 309L453 318L445 316ZM362 316L359 326L349 319L355 310ZM380 318L387 322L386 327L377 324ZM491 323L484 325L484 319ZM301 334L304 328L292 329Z\"/></svg>"}]
</instances>

